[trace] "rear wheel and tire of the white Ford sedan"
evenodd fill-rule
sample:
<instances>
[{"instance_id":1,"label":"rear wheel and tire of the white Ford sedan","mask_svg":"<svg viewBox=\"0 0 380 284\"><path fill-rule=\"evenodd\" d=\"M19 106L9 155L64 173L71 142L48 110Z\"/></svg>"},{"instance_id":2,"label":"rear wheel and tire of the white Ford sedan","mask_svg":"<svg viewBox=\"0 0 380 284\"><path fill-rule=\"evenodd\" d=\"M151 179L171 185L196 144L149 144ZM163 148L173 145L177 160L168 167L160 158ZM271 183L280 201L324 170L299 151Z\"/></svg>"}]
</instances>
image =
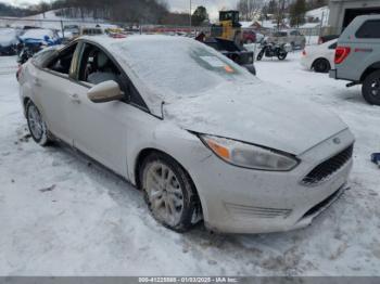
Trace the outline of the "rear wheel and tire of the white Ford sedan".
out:
<instances>
[{"instance_id":1,"label":"rear wheel and tire of the white Ford sedan","mask_svg":"<svg viewBox=\"0 0 380 284\"><path fill-rule=\"evenodd\" d=\"M31 101L26 104L26 119L33 140L41 146L47 146L51 142L49 131L40 112Z\"/></svg>"}]
</instances>

